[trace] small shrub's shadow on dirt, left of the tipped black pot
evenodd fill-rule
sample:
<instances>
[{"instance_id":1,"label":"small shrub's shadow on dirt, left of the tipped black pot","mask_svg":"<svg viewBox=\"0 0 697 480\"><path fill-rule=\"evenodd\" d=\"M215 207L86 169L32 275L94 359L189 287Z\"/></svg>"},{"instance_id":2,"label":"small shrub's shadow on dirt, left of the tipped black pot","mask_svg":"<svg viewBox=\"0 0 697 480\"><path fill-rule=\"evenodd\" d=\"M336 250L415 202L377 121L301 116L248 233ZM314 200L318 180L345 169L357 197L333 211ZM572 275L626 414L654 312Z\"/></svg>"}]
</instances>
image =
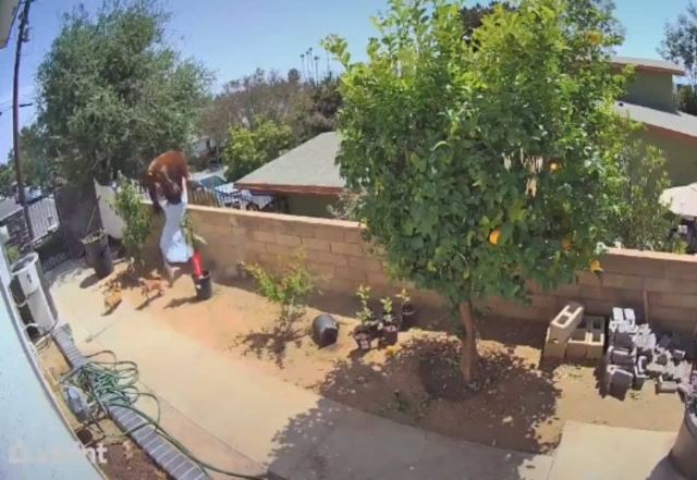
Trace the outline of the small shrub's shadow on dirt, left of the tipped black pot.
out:
<instances>
[{"instance_id":1,"label":"small shrub's shadow on dirt, left of the tipped black pot","mask_svg":"<svg viewBox=\"0 0 697 480\"><path fill-rule=\"evenodd\" d=\"M239 335L235 345L245 345L243 355L254 354L257 358L268 356L278 368L284 368L285 350L289 343L299 346L307 330L299 324L299 318L279 318L271 329L261 329Z\"/></svg>"}]
</instances>

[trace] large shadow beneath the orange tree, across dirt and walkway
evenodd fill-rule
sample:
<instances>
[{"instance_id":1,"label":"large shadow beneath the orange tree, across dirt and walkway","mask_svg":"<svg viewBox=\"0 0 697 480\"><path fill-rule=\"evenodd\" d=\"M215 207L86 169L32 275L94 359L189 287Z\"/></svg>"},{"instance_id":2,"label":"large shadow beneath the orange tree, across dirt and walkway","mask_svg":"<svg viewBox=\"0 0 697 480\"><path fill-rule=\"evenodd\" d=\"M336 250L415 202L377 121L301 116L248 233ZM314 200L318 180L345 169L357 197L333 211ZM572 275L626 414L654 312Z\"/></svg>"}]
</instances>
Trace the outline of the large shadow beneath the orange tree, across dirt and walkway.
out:
<instances>
[{"instance_id":1,"label":"large shadow beneath the orange tree, across dirt and walkway","mask_svg":"<svg viewBox=\"0 0 697 480\"><path fill-rule=\"evenodd\" d=\"M477 380L467 383L458 355L455 339L433 335L413 339L384 361L358 350L337 360L315 385L316 407L277 432L269 471L317 480L461 478L463 471L546 478L551 461L535 454L557 443L537 432L552 421L561 395L552 374L505 352L482 353ZM425 420L430 432L421 430Z\"/></svg>"}]
</instances>

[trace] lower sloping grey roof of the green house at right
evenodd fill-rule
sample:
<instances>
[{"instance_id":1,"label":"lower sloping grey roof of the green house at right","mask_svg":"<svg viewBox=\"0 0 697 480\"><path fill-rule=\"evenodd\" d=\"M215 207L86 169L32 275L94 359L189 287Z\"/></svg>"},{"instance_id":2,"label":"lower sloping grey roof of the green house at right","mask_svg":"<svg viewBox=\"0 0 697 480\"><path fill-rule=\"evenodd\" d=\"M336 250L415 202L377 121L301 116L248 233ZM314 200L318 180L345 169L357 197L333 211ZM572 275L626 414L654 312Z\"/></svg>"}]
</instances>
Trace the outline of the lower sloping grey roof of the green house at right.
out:
<instances>
[{"instance_id":1,"label":"lower sloping grey roof of the green house at right","mask_svg":"<svg viewBox=\"0 0 697 480\"><path fill-rule=\"evenodd\" d=\"M628 114L632 120L644 123L649 131L655 133L683 141L697 143L697 116L627 102L617 102L614 110L620 114Z\"/></svg>"}]
</instances>

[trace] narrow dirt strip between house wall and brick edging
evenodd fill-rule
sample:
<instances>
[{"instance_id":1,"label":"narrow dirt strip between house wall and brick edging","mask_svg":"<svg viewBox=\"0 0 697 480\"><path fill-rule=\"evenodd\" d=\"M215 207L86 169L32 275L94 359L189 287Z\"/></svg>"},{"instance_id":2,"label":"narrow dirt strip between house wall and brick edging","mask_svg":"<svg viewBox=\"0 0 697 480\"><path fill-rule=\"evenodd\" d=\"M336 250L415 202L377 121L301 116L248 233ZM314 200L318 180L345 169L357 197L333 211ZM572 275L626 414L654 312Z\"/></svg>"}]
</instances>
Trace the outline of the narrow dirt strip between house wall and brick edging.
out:
<instances>
[{"instance_id":1,"label":"narrow dirt strip between house wall and brick edging","mask_svg":"<svg viewBox=\"0 0 697 480\"><path fill-rule=\"evenodd\" d=\"M135 443L124 438L119 438L121 430L119 427L103 418L98 424L94 423L88 427L82 426L75 417L70 413L68 406L63 402L60 385L57 380L64 373L70 371L70 367L58 349L56 344L51 344L40 354L41 364L58 404L68 418L71 428L83 443L83 445L91 446L101 443L106 447L106 464L98 467L110 480L167 480L169 476L160 470L155 463L143 452ZM107 435L107 436L105 436Z\"/></svg>"}]
</instances>

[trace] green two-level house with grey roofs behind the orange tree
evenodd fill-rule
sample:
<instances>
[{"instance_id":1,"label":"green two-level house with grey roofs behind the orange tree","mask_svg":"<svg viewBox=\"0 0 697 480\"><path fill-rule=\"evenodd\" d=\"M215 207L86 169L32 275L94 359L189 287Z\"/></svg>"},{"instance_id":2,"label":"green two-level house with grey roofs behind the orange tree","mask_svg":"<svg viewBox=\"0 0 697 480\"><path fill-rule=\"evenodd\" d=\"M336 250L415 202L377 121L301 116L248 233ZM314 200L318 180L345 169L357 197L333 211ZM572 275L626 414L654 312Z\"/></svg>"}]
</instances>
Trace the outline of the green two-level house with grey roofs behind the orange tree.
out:
<instances>
[{"instance_id":1,"label":"green two-level house with grey roofs behind the orange tree","mask_svg":"<svg viewBox=\"0 0 697 480\"><path fill-rule=\"evenodd\" d=\"M615 111L645 125L639 136L646 144L663 150L674 185L697 182L697 116L678 112L675 106L673 76L684 76L684 69L662 60L624 57L612 60L617 67L635 65L634 82Z\"/></svg>"}]
</instances>

